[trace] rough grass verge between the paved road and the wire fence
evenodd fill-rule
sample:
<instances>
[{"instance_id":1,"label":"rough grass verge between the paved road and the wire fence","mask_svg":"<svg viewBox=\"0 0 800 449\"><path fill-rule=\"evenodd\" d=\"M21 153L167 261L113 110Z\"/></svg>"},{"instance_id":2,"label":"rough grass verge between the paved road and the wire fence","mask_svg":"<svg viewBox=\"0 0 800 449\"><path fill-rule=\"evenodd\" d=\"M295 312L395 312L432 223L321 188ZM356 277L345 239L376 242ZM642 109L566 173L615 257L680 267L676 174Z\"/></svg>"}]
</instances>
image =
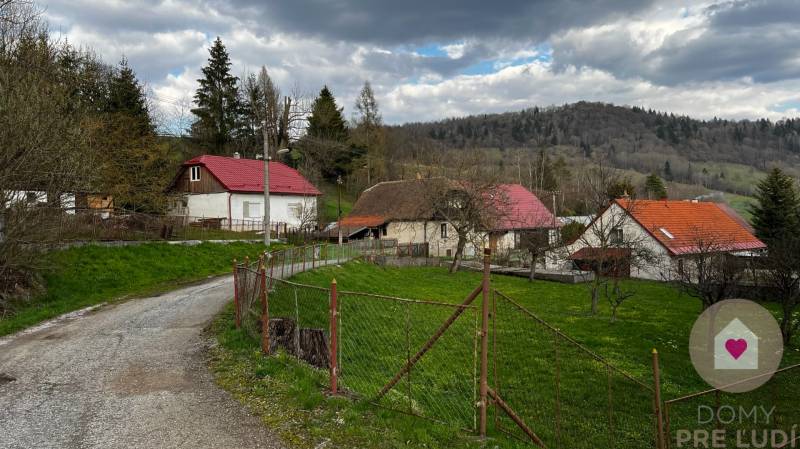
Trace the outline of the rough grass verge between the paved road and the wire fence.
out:
<instances>
[{"instance_id":1,"label":"rough grass verge between the paved road and the wire fence","mask_svg":"<svg viewBox=\"0 0 800 449\"><path fill-rule=\"evenodd\" d=\"M327 371L279 354L263 357L258 342L233 325L228 306L211 327L218 346L210 366L217 383L295 448L478 448L450 426L422 421L324 393Z\"/></svg>"}]
</instances>

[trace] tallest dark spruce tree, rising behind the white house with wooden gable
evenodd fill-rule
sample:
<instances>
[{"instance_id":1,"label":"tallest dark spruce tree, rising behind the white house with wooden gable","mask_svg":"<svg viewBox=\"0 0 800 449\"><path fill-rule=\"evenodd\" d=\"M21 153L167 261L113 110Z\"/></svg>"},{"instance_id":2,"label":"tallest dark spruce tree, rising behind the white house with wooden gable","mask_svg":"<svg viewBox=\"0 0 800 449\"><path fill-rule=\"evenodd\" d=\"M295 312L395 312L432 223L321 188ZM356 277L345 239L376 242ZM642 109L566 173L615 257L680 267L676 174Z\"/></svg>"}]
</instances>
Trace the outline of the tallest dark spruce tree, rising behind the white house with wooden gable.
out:
<instances>
[{"instance_id":1,"label":"tallest dark spruce tree, rising behind the white house with wooden gable","mask_svg":"<svg viewBox=\"0 0 800 449\"><path fill-rule=\"evenodd\" d=\"M231 75L231 61L222 40L217 37L209 50L208 64L194 94L197 104L192 113L192 137L212 153L224 154L241 125L237 77Z\"/></svg>"}]
</instances>

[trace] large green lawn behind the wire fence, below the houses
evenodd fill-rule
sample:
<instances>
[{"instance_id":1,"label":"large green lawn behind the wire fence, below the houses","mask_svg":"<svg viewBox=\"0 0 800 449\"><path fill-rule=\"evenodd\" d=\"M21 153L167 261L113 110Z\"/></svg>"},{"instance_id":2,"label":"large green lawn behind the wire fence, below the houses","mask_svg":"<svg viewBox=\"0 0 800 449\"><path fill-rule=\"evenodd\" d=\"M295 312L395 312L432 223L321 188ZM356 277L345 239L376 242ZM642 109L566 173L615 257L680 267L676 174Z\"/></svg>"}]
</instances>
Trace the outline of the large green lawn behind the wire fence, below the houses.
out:
<instances>
[{"instance_id":1,"label":"large green lawn behind the wire fence, below the houses","mask_svg":"<svg viewBox=\"0 0 800 449\"><path fill-rule=\"evenodd\" d=\"M477 273L450 275L444 269L380 268L362 262L302 273L293 280L327 287L334 277L343 292L449 304L460 302L480 282ZM651 385L653 348L661 355L666 399L707 388L688 356L688 336L700 313L699 302L680 296L664 284L629 282L637 295L623 305L620 321L612 324L605 304L598 316L588 314L586 286L493 277L496 289L610 363L607 366L595 360L565 339L556 342L555 334L547 327L520 313L510 302L498 299L491 330L491 383L549 447L653 447L651 393L616 370ZM357 398L374 398L409 352L413 354L452 310L441 305L342 293L340 370L344 388ZM270 312L272 316L299 318L302 327L325 329L326 293L279 286L271 296ZM471 404L475 394L475 326L475 311L468 310L423 357L410 380L404 377L380 404L449 422L454 427L474 428ZM785 364L798 362L797 348L790 348ZM771 389L765 387L760 390L762 393L721 399L731 404L770 400L781 405L779 417L786 424L797 420L796 411L786 411L794 410L788 401L800 397L798 387L790 381L776 379ZM324 380L320 387L323 385ZM775 390L781 394L776 396ZM696 405L706 404L703 401L707 399L676 406L673 423L690 425L692 419L696 420ZM496 422L494 413L490 419L490 427L497 423L520 435L502 414L498 414ZM420 423L425 426L422 423L427 421ZM500 447L524 446L496 431L493 435Z\"/></svg>"}]
</instances>

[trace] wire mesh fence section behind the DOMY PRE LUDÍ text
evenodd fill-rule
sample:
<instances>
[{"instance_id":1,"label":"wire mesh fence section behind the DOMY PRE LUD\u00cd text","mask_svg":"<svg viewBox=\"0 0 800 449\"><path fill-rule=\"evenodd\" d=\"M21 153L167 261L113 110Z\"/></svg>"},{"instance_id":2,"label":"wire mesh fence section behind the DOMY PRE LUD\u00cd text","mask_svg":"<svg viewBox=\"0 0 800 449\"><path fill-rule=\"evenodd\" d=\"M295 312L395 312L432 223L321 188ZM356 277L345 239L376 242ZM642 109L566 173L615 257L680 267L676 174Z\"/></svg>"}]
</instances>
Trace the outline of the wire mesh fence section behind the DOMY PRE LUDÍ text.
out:
<instances>
[{"instance_id":1,"label":"wire mesh fence section behind the DOMY PRE LUD\u00cd text","mask_svg":"<svg viewBox=\"0 0 800 449\"><path fill-rule=\"evenodd\" d=\"M800 447L799 379L800 365L794 365L746 393L711 389L666 401L667 447L693 447L697 432L715 430L722 431L724 447Z\"/></svg>"}]
</instances>

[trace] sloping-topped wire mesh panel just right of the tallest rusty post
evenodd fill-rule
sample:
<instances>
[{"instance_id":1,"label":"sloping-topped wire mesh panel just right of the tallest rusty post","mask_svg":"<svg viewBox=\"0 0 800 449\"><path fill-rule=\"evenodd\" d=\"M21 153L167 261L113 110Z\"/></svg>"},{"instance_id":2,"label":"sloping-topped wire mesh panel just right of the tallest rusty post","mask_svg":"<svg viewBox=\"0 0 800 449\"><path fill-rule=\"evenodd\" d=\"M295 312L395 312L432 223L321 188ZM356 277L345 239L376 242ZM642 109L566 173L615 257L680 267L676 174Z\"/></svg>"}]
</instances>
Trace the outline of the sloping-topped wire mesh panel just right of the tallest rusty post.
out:
<instances>
[{"instance_id":1,"label":"sloping-topped wire mesh panel just right of the tallest rusty post","mask_svg":"<svg viewBox=\"0 0 800 449\"><path fill-rule=\"evenodd\" d=\"M548 448L656 447L653 391L494 290L490 382ZM529 439L495 408L495 425Z\"/></svg>"}]
</instances>

